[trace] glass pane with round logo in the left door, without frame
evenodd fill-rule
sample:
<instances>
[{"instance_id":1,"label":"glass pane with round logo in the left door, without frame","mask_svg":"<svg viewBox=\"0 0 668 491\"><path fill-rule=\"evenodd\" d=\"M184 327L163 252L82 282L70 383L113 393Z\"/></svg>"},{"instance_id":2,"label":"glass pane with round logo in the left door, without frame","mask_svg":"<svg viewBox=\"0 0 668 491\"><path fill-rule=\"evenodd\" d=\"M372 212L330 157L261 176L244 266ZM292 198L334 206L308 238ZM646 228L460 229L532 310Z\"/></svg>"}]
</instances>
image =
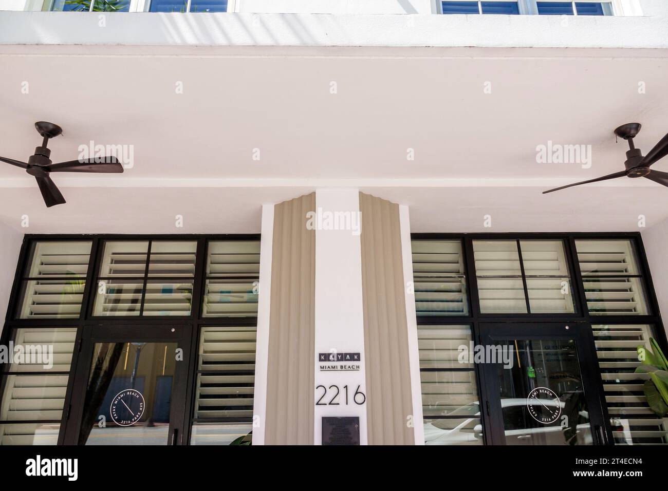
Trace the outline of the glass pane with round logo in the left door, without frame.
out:
<instances>
[{"instance_id":1,"label":"glass pane with round logo in the left door, without frame","mask_svg":"<svg viewBox=\"0 0 668 491\"><path fill-rule=\"evenodd\" d=\"M167 444L176 347L96 343L79 445Z\"/></svg>"}]
</instances>

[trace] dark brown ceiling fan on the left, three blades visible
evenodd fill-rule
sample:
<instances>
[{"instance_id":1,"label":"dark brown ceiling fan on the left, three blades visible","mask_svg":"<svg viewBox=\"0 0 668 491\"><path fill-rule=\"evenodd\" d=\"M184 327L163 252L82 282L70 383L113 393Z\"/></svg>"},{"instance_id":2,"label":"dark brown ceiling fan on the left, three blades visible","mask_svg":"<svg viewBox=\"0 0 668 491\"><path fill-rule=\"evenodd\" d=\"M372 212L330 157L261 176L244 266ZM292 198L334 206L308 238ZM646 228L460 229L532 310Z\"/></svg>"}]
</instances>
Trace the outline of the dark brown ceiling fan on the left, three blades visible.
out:
<instances>
[{"instance_id":1,"label":"dark brown ceiling fan on the left, three blades visible","mask_svg":"<svg viewBox=\"0 0 668 491\"><path fill-rule=\"evenodd\" d=\"M123 172L122 164L120 164L118 159L113 156L69 160L69 162L52 164L51 159L49 159L51 150L46 148L46 146L49 143L49 139L58 136L63 130L57 124L45 121L36 122L35 128L42 136L43 141L41 146L35 148L35 154L28 157L27 164L25 162L20 162L19 160L5 157L0 157L0 161L25 169L25 172L31 176L35 176L37 186L39 186L39 190L41 191L47 208L65 202L65 198L63 198L63 195L58 190L55 182L53 182L49 176L51 172Z\"/></svg>"}]
</instances>

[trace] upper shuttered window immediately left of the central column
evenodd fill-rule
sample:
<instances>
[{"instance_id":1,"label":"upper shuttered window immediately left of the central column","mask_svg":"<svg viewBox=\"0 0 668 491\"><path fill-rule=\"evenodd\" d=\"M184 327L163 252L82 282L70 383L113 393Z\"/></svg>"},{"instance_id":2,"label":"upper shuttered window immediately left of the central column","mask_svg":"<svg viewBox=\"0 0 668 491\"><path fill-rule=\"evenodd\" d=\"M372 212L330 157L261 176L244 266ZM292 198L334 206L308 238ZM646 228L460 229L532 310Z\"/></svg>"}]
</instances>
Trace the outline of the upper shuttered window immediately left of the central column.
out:
<instances>
[{"instance_id":1,"label":"upper shuttered window immediately left of the central column","mask_svg":"<svg viewBox=\"0 0 668 491\"><path fill-rule=\"evenodd\" d=\"M202 317L257 316L259 240L208 243Z\"/></svg>"}]
</instances>

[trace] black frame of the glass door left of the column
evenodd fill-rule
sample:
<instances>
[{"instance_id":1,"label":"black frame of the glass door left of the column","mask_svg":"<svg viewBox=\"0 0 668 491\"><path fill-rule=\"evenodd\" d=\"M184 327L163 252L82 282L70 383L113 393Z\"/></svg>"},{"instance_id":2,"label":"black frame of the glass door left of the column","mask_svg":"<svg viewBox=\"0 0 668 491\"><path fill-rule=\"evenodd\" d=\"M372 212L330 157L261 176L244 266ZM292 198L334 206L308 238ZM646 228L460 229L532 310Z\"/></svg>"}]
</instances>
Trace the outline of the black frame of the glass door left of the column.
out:
<instances>
[{"instance_id":1,"label":"black frame of the glass door left of the column","mask_svg":"<svg viewBox=\"0 0 668 491\"><path fill-rule=\"evenodd\" d=\"M59 444L77 445L81 430L83 406L90 377L94 345L96 343L178 343L183 359L177 361L172 384L168 445L187 444L188 393L190 392L190 360L192 353L192 325L86 325L78 343L78 356L71 387L70 405L65 415ZM184 437L185 436L185 437Z\"/></svg>"}]
</instances>

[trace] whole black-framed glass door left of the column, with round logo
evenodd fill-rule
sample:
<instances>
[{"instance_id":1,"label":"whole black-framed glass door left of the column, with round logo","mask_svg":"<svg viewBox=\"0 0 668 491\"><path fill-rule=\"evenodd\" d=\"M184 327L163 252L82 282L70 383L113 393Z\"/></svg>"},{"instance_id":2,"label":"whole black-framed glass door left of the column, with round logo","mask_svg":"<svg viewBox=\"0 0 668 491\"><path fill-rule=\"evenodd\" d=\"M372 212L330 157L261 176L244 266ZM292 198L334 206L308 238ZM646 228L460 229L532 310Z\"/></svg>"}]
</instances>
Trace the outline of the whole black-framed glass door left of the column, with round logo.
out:
<instances>
[{"instance_id":1,"label":"whole black-framed glass door left of the column, with round logo","mask_svg":"<svg viewBox=\"0 0 668 491\"><path fill-rule=\"evenodd\" d=\"M65 444L180 444L190 333L179 325L87 328Z\"/></svg>"}]
</instances>

